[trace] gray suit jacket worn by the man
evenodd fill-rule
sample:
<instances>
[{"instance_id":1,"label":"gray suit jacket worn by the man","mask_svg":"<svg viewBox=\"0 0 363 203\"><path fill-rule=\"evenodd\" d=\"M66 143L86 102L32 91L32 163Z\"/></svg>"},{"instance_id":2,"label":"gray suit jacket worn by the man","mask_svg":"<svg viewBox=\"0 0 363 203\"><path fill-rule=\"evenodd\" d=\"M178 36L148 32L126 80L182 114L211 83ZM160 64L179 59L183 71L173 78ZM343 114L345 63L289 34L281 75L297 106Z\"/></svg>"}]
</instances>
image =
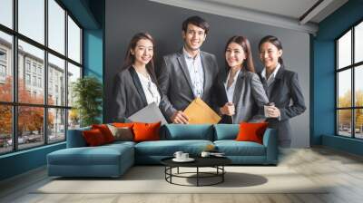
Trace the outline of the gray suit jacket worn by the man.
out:
<instances>
[{"instance_id":1,"label":"gray suit jacket worn by the man","mask_svg":"<svg viewBox=\"0 0 363 203\"><path fill-rule=\"evenodd\" d=\"M201 100L216 109L215 104L211 101L211 87L216 82L219 73L216 57L211 53L201 52L201 64L204 71ZM163 57L158 82L162 93L166 95L161 108L168 120L175 111L183 111L195 99L192 92L191 75L182 50Z\"/></svg>"}]
</instances>

